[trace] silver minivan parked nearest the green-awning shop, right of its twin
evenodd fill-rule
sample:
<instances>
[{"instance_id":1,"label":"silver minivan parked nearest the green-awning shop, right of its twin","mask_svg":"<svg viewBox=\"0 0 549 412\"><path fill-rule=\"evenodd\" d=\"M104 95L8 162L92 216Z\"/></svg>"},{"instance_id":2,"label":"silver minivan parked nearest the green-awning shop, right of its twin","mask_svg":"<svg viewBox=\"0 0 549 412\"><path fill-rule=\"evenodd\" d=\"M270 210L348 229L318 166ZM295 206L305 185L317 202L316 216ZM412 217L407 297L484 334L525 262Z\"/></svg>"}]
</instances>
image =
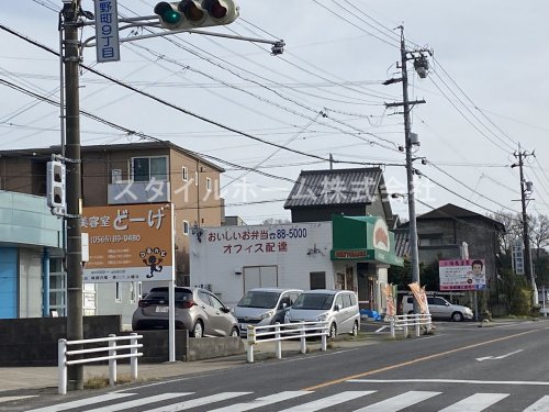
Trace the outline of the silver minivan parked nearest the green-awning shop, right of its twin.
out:
<instances>
[{"instance_id":1,"label":"silver minivan parked nearest the green-awning shop, right of its twin","mask_svg":"<svg viewBox=\"0 0 549 412\"><path fill-rule=\"evenodd\" d=\"M284 323L302 321L326 321L330 338L345 333L356 336L360 329L357 296L350 290L307 290L293 302L284 319Z\"/></svg>"}]
</instances>

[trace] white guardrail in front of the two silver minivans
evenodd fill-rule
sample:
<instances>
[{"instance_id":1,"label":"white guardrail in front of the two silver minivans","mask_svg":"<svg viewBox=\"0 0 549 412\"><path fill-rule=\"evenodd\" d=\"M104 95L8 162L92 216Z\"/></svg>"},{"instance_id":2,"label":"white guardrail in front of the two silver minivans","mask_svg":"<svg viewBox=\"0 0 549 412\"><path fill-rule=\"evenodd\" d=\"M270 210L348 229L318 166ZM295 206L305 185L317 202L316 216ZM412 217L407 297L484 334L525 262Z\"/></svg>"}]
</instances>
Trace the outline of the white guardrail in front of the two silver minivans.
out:
<instances>
[{"instance_id":1,"label":"white guardrail in front of the two silver minivans","mask_svg":"<svg viewBox=\"0 0 549 412\"><path fill-rule=\"evenodd\" d=\"M248 347L246 349L246 360L253 364L254 346L267 342L276 342L276 356L278 359L282 359L282 341L295 338L300 339L300 352L304 354L306 353L307 337L317 336L321 336L321 350L326 350L328 336L327 322L295 322L282 324L277 322L273 325L248 325Z\"/></svg>"}]
</instances>

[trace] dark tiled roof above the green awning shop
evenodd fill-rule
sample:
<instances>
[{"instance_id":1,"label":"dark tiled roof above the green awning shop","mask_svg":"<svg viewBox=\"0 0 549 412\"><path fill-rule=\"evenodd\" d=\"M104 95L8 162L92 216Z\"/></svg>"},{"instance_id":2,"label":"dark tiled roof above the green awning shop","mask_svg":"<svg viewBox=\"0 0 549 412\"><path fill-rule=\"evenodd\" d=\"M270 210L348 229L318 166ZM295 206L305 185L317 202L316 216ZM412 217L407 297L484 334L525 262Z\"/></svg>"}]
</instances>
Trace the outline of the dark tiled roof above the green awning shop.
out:
<instances>
[{"instance_id":1,"label":"dark tiled roof above the green awning shop","mask_svg":"<svg viewBox=\"0 0 549 412\"><path fill-rule=\"evenodd\" d=\"M284 209L372 203L382 179L378 167L302 170Z\"/></svg>"}]
</instances>

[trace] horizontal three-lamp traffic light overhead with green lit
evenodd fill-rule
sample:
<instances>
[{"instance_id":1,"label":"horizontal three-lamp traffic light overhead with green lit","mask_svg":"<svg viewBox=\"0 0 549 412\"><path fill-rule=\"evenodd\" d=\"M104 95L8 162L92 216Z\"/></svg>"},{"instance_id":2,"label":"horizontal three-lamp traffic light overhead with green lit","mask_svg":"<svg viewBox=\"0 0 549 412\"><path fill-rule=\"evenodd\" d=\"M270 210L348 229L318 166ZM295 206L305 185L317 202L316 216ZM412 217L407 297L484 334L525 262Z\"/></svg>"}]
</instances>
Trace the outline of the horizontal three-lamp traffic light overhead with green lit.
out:
<instances>
[{"instance_id":1,"label":"horizontal three-lamp traffic light overhead with green lit","mask_svg":"<svg viewBox=\"0 0 549 412\"><path fill-rule=\"evenodd\" d=\"M233 0L161 1L155 7L164 29L200 29L233 23L238 5Z\"/></svg>"}]
</instances>

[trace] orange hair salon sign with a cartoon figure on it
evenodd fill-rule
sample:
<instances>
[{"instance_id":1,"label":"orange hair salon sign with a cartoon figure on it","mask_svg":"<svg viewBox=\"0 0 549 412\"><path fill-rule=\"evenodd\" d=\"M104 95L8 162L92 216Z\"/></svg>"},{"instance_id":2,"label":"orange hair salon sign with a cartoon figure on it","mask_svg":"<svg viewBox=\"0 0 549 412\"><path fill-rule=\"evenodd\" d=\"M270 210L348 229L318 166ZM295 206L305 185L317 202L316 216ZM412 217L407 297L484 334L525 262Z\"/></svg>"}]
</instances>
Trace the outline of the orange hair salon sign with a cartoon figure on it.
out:
<instances>
[{"instance_id":1,"label":"orange hair salon sign with a cartoon figure on it","mask_svg":"<svg viewBox=\"0 0 549 412\"><path fill-rule=\"evenodd\" d=\"M89 236L85 282L172 280L170 204L83 208L81 230Z\"/></svg>"}]
</instances>

